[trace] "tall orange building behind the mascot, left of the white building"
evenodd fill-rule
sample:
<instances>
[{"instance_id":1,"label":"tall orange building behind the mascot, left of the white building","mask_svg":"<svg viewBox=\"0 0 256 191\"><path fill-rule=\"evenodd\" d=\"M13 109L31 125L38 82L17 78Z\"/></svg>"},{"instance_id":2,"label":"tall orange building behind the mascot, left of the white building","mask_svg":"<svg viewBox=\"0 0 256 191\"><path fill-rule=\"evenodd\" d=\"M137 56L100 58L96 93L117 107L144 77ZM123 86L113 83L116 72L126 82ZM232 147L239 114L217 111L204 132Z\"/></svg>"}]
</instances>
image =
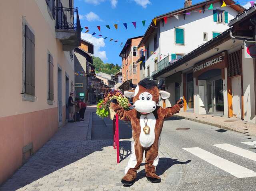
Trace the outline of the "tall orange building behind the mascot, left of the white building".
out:
<instances>
[{"instance_id":1,"label":"tall orange building behind the mascot, left of the white building","mask_svg":"<svg viewBox=\"0 0 256 191\"><path fill-rule=\"evenodd\" d=\"M127 39L122 51L120 52L120 57L122 57L122 85L119 89L125 91L129 89L129 83L137 84L140 79L140 51L144 50L144 47L138 48L143 36L133 37Z\"/></svg>"}]
</instances>

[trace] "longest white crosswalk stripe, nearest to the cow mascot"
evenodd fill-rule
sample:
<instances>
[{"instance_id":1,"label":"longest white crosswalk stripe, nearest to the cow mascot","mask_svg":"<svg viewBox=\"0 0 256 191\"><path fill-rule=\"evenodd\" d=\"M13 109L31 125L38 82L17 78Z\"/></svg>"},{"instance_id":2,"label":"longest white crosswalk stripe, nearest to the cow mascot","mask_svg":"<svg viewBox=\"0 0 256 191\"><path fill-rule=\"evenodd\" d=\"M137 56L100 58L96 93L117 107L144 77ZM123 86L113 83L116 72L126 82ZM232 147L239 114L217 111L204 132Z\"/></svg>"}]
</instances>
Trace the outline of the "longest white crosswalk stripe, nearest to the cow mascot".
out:
<instances>
[{"instance_id":1,"label":"longest white crosswalk stripe, nearest to the cow mascot","mask_svg":"<svg viewBox=\"0 0 256 191\"><path fill-rule=\"evenodd\" d=\"M203 150L199 147L194 148L183 148L184 150L194 154L195 156L205 160L206 162L230 173L231 175L237 178L246 178L246 177L256 177L256 172L242 167L236 163L228 161L224 158L221 158L217 155L214 155L206 150Z\"/></svg>"}]
</instances>

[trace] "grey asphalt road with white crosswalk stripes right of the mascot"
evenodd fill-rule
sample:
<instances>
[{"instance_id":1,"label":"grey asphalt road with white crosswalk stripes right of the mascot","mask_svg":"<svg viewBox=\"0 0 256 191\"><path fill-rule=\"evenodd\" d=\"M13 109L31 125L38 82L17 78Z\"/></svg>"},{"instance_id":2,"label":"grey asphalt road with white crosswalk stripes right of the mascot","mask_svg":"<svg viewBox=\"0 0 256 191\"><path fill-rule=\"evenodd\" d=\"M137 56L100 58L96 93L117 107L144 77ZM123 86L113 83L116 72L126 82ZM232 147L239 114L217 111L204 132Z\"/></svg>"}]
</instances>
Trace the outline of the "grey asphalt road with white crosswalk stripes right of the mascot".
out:
<instances>
[{"instance_id":1,"label":"grey asphalt road with white crosswalk stripes right of the mascot","mask_svg":"<svg viewBox=\"0 0 256 191\"><path fill-rule=\"evenodd\" d=\"M180 178L170 182L172 190L256 191L256 142L252 141L256 137L197 122L165 121L161 147L180 162L176 164Z\"/></svg>"}]
</instances>

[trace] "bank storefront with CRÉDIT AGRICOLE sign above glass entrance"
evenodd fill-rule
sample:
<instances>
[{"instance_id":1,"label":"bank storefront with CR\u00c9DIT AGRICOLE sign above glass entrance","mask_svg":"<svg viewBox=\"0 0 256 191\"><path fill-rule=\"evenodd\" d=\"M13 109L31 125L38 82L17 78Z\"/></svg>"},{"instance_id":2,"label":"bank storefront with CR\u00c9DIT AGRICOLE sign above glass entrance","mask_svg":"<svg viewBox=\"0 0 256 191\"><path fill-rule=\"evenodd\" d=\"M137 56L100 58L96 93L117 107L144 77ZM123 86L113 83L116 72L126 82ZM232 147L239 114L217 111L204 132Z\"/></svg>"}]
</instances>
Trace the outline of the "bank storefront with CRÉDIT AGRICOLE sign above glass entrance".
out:
<instances>
[{"instance_id":1,"label":"bank storefront with CR\u00c9DIT AGRICOLE sign above glass entrance","mask_svg":"<svg viewBox=\"0 0 256 191\"><path fill-rule=\"evenodd\" d=\"M192 72L194 89L192 93L191 81L187 80L188 108L191 107L190 97L194 97L194 112L224 115L226 58L227 53L223 51L194 65Z\"/></svg>"}]
</instances>

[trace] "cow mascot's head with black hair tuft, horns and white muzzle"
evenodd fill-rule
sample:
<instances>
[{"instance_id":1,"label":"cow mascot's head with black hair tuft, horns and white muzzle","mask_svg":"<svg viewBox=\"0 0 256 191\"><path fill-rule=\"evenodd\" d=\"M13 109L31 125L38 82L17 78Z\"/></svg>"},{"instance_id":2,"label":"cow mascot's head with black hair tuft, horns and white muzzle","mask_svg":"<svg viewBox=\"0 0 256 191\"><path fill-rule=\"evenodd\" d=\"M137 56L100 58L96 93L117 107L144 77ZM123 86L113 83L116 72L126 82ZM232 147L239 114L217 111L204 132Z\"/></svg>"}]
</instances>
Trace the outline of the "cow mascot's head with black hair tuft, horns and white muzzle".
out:
<instances>
[{"instance_id":1,"label":"cow mascot's head with black hair tuft, horns and white muzzle","mask_svg":"<svg viewBox=\"0 0 256 191\"><path fill-rule=\"evenodd\" d=\"M170 93L159 90L164 81L161 80L157 85L153 80L148 78L143 79L138 85L130 83L130 86L134 88L132 91L124 91L126 97L133 98L133 107L141 114L148 114L156 109L156 104L159 102L159 96L162 99L168 99Z\"/></svg>"}]
</instances>

